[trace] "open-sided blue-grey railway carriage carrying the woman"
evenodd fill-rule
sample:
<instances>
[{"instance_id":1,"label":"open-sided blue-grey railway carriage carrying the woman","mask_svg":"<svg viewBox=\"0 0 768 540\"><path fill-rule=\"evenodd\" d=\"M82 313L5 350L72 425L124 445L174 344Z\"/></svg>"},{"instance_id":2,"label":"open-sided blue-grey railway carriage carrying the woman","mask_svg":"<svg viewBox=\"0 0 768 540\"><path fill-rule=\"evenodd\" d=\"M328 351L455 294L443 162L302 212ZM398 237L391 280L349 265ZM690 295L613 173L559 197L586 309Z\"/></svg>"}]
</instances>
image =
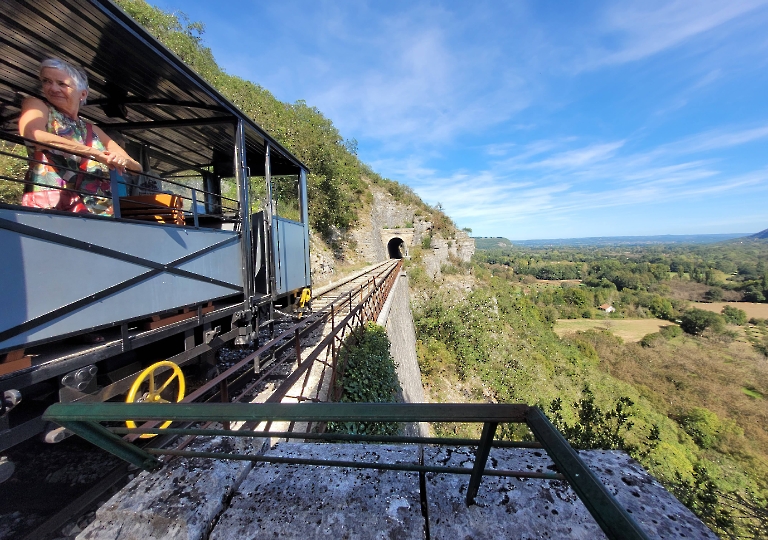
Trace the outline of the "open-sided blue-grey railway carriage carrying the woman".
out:
<instances>
[{"instance_id":1,"label":"open-sided blue-grey railway carriage carrying the woman","mask_svg":"<svg viewBox=\"0 0 768 540\"><path fill-rule=\"evenodd\" d=\"M54 401L113 399L158 360L205 368L310 286L306 167L108 0L0 3L3 163L30 160L17 121L48 57L85 68L80 115L145 174L112 173L112 217L0 204L0 451Z\"/></svg>"}]
</instances>

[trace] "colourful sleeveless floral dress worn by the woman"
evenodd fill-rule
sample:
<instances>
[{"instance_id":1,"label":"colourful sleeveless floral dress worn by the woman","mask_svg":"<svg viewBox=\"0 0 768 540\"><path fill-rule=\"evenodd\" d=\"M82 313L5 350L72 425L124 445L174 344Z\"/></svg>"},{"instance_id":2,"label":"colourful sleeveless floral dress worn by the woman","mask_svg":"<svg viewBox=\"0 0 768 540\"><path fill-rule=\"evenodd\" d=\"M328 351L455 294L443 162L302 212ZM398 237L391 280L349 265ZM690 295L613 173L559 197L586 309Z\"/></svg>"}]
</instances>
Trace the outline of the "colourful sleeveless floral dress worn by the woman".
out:
<instances>
[{"instance_id":1,"label":"colourful sleeveless floral dress worn by the woman","mask_svg":"<svg viewBox=\"0 0 768 540\"><path fill-rule=\"evenodd\" d=\"M48 133L64 137L85 145L88 123L78 117L72 119L55 107L48 106ZM105 151L104 144L93 132L91 148ZM81 158L63 150L47 147L27 147L35 162L30 163L27 180L33 182L33 191L47 191L53 188L77 190L80 200L91 214L112 215L112 192L109 181L109 168L95 160L88 160L85 172L81 169ZM42 184L42 185L40 185ZM47 188L45 186L50 186ZM74 192L69 192L72 196Z\"/></svg>"}]
</instances>

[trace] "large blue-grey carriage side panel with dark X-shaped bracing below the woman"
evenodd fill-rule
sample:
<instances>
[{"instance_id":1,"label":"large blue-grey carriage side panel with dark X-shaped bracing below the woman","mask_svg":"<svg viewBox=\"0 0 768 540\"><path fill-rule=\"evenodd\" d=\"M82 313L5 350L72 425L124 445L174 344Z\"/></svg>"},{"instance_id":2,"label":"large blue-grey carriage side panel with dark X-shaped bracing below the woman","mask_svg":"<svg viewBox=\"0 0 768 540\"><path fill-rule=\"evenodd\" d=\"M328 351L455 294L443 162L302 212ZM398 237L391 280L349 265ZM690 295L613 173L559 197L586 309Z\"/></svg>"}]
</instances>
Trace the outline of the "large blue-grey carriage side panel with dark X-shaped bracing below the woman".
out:
<instances>
[{"instance_id":1,"label":"large blue-grey carriage side panel with dark X-shaped bracing below the woman","mask_svg":"<svg viewBox=\"0 0 768 540\"><path fill-rule=\"evenodd\" d=\"M242 294L239 235L0 208L0 351Z\"/></svg>"}]
</instances>

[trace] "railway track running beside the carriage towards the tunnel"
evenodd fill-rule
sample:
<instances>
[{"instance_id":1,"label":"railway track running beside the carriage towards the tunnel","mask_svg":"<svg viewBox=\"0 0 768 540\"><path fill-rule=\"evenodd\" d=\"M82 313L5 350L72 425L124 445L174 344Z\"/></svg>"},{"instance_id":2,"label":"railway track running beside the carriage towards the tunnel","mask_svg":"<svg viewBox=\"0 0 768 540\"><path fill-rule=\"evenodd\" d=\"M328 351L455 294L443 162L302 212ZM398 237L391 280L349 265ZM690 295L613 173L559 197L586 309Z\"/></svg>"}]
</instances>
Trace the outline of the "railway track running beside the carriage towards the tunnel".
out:
<instances>
[{"instance_id":1,"label":"railway track running beside the carriage towards the tunnel","mask_svg":"<svg viewBox=\"0 0 768 540\"><path fill-rule=\"evenodd\" d=\"M400 261L389 260L372 265L362 271L345 277L338 282L319 288L312 300L312 311L301 319L276 320L265 326L260 332L262 345L240 352L240 359L222 364L221 373L214 379L201 384L188 394L183 401L237 402L237 401L323 401L327 399L328 389L332 387L334 373L334 355L340 340L351 332L352 328L371 318L375 319L377 310L391 287L394 277L399 272ZM221 354L219 355L221 357ZM297 361L298 359L298 361ZM319 369L318 369L319 368ZM309 381L315 377L313 385ZM307 391L307 388L310 390ZM306 394L306 395L305 395ZM325 395L324 395L325 394ZM150 424L145 424L150 427ZM255 426L244 425L241 429L253 429ZM285 428L285 427L283 427ZM294 429L309 430L311 426L287 426ZM158 436L154 439L137 440L138 436L128 435L128 440L153 447L182 449L189 445L193 437L179 440L171 436ZM61 443L61 444L71 444ZM45 453L50 445L37 445ZM95 455L103 455L98 449L92 449ZM28 456L31 457L31 456ZM68 500L57 497L57 490L48 490L52 498L51 506L58 502L58 507L49 509L48 517L35 523L32 528L24 527L9 530L0 529L0 540L4 538L23 538L24 540L44 540L49 538L74 538L83 523L83 516L92 514L113 492L124 485L132 474L125 464L108 465L110 456L103 455L107 472L90 483L82 493L72 495ZM95 458L99 459L99 458ZM172 459L172 458L171 458ZM23 509L20 509L23 512ZM13 514L15 515L15 513ZM73 532L71 536L67 532Z\"/></svg>"}]
</instances>

